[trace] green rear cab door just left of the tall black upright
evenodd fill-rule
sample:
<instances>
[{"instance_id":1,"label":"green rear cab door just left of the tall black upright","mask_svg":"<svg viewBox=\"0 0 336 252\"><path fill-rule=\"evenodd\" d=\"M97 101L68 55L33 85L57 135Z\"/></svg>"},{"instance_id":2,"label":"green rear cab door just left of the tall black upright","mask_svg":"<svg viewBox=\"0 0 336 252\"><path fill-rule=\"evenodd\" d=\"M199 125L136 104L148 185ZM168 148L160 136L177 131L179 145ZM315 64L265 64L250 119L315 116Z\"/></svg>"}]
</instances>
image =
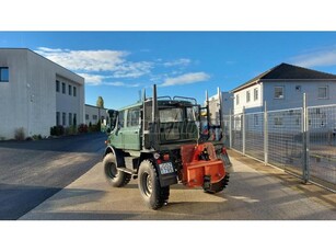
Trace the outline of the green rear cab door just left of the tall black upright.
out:
<instances>
[{"instance_id":1,"label":"green rear cab door just left of the tall black upright","mask_svg":"<svg viewBox=\"0 0 336 252\"><path fill-rule=\"evenodd\" d=\"M124 149L140 150L140 107L127 111L126 125L123 129Z\"/></svg>"}]
</instances>

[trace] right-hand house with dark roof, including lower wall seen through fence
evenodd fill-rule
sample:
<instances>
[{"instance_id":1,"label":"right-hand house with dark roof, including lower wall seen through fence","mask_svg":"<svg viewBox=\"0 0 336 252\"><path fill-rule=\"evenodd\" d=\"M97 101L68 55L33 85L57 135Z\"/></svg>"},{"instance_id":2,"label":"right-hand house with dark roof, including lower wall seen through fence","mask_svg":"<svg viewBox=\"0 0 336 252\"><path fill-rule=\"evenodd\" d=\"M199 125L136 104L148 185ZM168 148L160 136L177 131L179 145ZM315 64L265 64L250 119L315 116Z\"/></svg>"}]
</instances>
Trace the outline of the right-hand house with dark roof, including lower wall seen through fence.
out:
<instances>
[{"instance_id":1,"label":"right-hand house with dark roof, including lower wall seen through fence","mask_svg":"<svg viewBox=\"0 0 336 252\"><path fill-rule=\"evenodd\" d=\"M263 127L263 112L268 112L270 131L302 130L304 105L309 127L314 133L336 130L336 76L281 64L232 91L234 96L234 128L241 129L242 113L245 127ZM248 119L250 118L250 119Z\"/></svg>"}]
</instances>

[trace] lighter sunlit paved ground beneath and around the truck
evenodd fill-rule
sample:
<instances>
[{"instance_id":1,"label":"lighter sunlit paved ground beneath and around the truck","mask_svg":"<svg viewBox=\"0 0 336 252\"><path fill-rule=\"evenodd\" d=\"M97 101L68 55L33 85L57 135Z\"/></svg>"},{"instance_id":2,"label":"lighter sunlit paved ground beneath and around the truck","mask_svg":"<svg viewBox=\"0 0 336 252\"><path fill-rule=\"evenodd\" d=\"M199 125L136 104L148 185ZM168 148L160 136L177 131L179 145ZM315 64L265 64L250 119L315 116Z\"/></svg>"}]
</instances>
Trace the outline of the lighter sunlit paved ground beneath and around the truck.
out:
<instances>
[{"instance_id":1,"label":"lighter sunlit paved ground beneath and around the truck","mask_svg":"<svg viewBox=\"0 0 336 252\"><path fill-rule=\"evenodd\" d=\"M336 220L336 194L230 152L234 173L223 192L171 187L170 202L148 209L137 181L109 187L99 162L83 176L21 217L22 220Z\"/></svg>"}]
</instances>

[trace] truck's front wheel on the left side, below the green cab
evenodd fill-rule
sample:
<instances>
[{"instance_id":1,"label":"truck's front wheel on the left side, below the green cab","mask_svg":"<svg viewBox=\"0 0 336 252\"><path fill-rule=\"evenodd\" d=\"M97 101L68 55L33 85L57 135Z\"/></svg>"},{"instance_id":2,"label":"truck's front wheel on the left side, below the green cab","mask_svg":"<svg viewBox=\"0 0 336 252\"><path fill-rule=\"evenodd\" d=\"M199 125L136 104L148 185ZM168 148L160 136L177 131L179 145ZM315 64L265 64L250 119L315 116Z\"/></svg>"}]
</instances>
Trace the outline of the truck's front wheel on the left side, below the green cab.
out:
<instances>
[{"instance_id":1,"label":"truck's front wheel on the left side, below the green cab","mask_svg":"<svg viewBox=\"0 0 336 252\"><path fill-rule=\"evenodd\" d=\"M123 187L127 185L131 179L130 174L118 171L116 158L113 153L105 156L103 160L103 167L107 182L114 187Z\"/></svg>"}]
</instances>

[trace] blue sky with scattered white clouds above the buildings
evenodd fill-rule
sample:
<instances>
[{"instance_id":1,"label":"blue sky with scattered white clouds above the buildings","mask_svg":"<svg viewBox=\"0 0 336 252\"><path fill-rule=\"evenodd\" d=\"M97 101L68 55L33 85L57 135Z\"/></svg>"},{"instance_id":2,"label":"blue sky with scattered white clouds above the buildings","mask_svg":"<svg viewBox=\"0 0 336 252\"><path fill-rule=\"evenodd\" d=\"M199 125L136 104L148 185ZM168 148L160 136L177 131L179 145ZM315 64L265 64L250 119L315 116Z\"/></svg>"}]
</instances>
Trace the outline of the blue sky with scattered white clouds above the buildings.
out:
<instances>
[{"instance_id":1,"label":"blue sky with scattered white clouds above the buildings","mask_svg":"<svg viewBox=\"0 0 336 252\"><path fill-rule=\"evenodd\" d=\"M0 32L85 78L85 103L136 102L139 91L194 96L230 91L281 62L336 75L336 32Z\"/></svg>"}]
</instances>

